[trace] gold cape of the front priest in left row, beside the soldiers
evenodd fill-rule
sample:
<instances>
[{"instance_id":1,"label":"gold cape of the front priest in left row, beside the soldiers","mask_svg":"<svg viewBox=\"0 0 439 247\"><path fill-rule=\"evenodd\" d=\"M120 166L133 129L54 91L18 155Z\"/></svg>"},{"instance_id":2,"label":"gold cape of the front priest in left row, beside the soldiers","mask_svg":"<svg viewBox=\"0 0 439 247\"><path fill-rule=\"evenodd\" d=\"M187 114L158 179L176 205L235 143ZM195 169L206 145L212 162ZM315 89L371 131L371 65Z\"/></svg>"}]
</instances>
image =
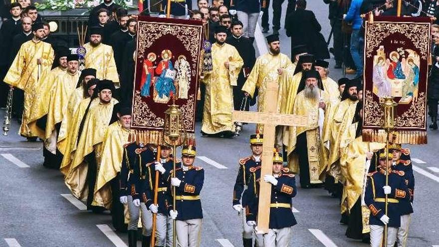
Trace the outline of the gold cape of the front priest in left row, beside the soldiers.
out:
<instances>
[{"instance_id":1,"label":"gold cape of the front priest in left row, beside the soldiers","mask_svg":"<svg viewBox=\"0 0 439 247\"><path fill-rule=\"evenodd\" d=\"M120 172L122 165L123 147L128 143L130 130L122 127L119 121L108 126L102 142L102 160L94 189L93 206L110 209L110 181Z\"/></svg>"}]
</instances>

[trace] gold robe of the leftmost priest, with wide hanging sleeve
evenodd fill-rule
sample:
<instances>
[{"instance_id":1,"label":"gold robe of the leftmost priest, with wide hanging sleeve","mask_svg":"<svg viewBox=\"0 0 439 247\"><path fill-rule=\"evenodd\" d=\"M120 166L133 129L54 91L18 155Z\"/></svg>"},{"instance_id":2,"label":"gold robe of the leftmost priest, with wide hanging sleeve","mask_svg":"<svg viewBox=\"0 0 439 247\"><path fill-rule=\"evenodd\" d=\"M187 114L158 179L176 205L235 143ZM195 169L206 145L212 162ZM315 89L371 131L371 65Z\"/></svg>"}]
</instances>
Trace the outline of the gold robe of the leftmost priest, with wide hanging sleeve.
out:
<instances>
[{"instance_id":1,"label":"gold robe of the leftmost priest, with wide hanging sleeve","mask_svg":"<svg viewBox=\"0 0 439 247\"><path fill-rule=\"evenodd\" d=\"M41 64L37 64L41 59ZM30 108L39 81L50 71L53 49L49 43L29 40L24 42L7 71L3 81L24 91L24 108L19 134L24 137L36 136L27 127Z\"/></svg>"}]
</instances>

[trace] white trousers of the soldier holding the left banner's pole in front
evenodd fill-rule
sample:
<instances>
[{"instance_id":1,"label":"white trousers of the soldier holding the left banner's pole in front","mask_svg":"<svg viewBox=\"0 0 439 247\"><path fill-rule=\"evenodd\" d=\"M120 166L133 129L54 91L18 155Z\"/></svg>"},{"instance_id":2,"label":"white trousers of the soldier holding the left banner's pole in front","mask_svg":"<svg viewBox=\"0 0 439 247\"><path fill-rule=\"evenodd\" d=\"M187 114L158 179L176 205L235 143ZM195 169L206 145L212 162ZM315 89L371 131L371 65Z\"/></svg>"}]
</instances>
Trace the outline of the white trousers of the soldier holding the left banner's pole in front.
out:
<instances>
[{"instance_id":1,"label":"white trousers of the soldier holding the left banner's pole in front","mask_svg":"<svg viewBox=\"0 0 439 247\"><path fill-rule=\"evenodd\" d=\"M202 219L187 221L176 221L177 246L178 247L200 247Z\"/></svg>"}]
</instances>

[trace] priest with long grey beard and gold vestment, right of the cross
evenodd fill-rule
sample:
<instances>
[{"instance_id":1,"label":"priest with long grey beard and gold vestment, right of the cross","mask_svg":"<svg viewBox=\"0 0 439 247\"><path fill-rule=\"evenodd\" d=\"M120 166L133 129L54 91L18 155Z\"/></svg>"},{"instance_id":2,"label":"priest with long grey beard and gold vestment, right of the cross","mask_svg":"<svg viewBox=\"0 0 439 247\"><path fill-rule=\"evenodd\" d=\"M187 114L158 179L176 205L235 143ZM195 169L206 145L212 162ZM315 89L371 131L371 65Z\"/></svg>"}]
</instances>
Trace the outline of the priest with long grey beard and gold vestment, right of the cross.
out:
<instances>
[{"instance_id":1,"label":"priest with long grey beard and gold vestment, right of the cross","mask_svg":"<svg viewBox=\"0 0 439 247\"><path fill-rule=\"evenodd\" d=\"M292 127L288 132L288 166L293 172L299 173L302 188L322 183L319 177L326 167L322 157L323 126L320 126L319 115L325 114L329 95L322 89L319 73L315 70L305 71L292 111L295 115L308 115L308 126Z\"/></svg>"}]
</instances>

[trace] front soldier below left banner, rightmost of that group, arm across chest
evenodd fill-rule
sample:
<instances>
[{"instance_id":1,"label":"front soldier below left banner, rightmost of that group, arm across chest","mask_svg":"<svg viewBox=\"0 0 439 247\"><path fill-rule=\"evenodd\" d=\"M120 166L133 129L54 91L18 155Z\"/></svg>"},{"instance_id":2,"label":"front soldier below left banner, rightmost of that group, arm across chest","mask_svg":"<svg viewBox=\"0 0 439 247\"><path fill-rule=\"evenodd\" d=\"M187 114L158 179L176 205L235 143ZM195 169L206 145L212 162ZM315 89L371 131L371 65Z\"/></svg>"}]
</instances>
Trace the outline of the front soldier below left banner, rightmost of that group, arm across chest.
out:
<instances>
[{"instance_id":1,"label":"front soldier below left banner, rightmost of that group, arm across chest","mask_svg":"<svg viewBox=\"0 0 439 247\"><path fill-rule=\"evenodd\" d=\"M200 192L204 183L204 170L194 166L195 155L195 146L184 146L182 166L171 171L169 177L171 185L176 189L174 195L176 210L173 210L171 199L168 211L171 218L176 220L179 247L200 247L203 223ZM173 172L175 172L175 178L171 178Z\"/></svg>"}]
</instances>

